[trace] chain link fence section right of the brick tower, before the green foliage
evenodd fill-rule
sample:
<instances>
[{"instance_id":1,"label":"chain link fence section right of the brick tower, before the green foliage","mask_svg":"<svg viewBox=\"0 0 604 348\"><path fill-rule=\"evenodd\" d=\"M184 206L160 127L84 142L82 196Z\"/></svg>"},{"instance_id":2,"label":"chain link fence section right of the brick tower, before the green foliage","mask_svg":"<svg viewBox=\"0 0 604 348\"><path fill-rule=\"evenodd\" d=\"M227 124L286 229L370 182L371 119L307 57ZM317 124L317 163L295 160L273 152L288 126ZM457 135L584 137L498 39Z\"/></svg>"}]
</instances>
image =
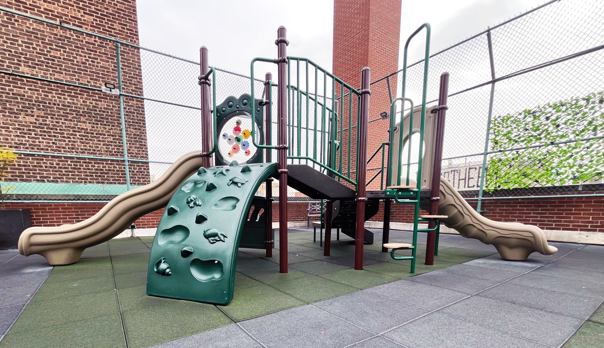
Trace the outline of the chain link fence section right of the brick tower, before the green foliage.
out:
<instances>
[{"instance_id":1,"label":"chain link fence section right of the brick tower, before the green foliage","mask_svg":"<svg viewBox=\"0 0 604 348\"><path fill-rule=\"evenodd\" d=\"M604 191L602 18L598 0L550 1L432 54L428 106L451 74L442 174L479 209L483 199ZM407 69L416 105L423 65ZM393 80L400 95L402 71Z\"/></svg>"}]
</instances>

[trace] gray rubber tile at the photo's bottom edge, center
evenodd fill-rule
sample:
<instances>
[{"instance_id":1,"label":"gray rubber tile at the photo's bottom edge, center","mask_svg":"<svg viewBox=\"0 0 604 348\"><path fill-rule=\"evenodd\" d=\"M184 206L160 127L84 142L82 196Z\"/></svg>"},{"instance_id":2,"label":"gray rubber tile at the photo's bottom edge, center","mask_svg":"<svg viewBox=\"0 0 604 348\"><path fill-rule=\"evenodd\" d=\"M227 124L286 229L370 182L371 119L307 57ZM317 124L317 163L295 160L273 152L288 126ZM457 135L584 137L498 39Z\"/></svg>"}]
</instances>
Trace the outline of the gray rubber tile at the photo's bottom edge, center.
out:
<instances>
[{"instance_id":1,"label":"gray rubber tile at the photo's bottom edge, center","mask_svg":"<svg viewBox=\"0 0 604 348\"><path fill-rule=\"evenodd\" d=\"M239 324L268 348L344 347L373 336L312 306L292 308Z\"/></svg>"}]
</instances>

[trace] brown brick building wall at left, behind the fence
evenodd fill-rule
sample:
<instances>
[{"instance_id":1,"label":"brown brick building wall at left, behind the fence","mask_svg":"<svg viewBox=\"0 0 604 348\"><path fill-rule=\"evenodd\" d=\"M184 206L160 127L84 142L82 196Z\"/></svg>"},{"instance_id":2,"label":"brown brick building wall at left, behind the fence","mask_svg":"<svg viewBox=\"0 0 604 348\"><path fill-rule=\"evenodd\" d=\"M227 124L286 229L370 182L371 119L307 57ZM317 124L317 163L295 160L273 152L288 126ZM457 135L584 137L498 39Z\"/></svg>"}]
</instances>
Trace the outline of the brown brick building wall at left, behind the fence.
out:
<instances>
[{"instance_id":1,"label":"brown brick building wall at left, behind the fence","mask_svg":"<svg viewBox=\"0 0 604 348\"><path fill-rule=\"evenodd\" d=\"M132 0L1 0L0 5L64 25L138 43ZM2 13L0 69L99 88L117 84L116 48L54 25ZM121 47L123 91L143 94L140 55ZM147 158L141 100L124 98L130 158ZM28 152L122 157L116 95L0 74L0 146ZM21 182L125 184L123 161L19 155L10 172ZM149 166L130 163L132 184L149 183Z\"/></svg>"}]
</instances>

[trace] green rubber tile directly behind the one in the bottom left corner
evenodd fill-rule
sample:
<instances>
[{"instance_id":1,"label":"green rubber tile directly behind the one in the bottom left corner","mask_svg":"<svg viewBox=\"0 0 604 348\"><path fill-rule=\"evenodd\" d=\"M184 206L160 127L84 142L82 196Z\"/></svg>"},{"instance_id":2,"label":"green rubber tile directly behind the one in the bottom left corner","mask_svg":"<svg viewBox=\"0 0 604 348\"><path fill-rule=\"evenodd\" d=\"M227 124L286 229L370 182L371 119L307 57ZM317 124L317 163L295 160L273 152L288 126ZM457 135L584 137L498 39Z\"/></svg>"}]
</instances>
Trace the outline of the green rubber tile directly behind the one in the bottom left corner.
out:
<instances>
[{"instance_id":1,"label":"green rubber tile directly behind the one in the bottom left corner","mask_svg":"<svg viewBox=\"0 0 604 348\"><path fill-rule=\"evenodd\" d=\"M115 290L31 301L10 332L22 332L118 312Z\"/></svg>"}]
</instances>

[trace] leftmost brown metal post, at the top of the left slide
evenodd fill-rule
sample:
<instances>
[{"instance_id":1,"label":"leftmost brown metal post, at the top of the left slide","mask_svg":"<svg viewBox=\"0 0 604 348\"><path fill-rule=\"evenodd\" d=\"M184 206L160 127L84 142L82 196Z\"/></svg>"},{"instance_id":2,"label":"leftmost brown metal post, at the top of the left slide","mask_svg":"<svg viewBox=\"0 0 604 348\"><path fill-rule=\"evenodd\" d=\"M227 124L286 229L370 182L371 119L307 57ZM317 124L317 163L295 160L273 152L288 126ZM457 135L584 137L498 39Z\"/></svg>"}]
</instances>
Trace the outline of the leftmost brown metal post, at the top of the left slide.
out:
<instances>
[{"instance_id":1,"label":"leftmost brown metal post, at the top of the left slide","mask_svg":"<svg viewBox=\"0 0 604 348\"><path fill-rule=\"evenodd\" d=\"M202 46L199 48L199 85L201 85L201 150L204 153L212 150L212 120L210 117L210 83L209 80L202 80L201 77L205 76L210 70L208 63L208 48ZM202 158L202 166L211 167L212 159L210 156L204 156Z\"/></svg>"}]
</instances>

